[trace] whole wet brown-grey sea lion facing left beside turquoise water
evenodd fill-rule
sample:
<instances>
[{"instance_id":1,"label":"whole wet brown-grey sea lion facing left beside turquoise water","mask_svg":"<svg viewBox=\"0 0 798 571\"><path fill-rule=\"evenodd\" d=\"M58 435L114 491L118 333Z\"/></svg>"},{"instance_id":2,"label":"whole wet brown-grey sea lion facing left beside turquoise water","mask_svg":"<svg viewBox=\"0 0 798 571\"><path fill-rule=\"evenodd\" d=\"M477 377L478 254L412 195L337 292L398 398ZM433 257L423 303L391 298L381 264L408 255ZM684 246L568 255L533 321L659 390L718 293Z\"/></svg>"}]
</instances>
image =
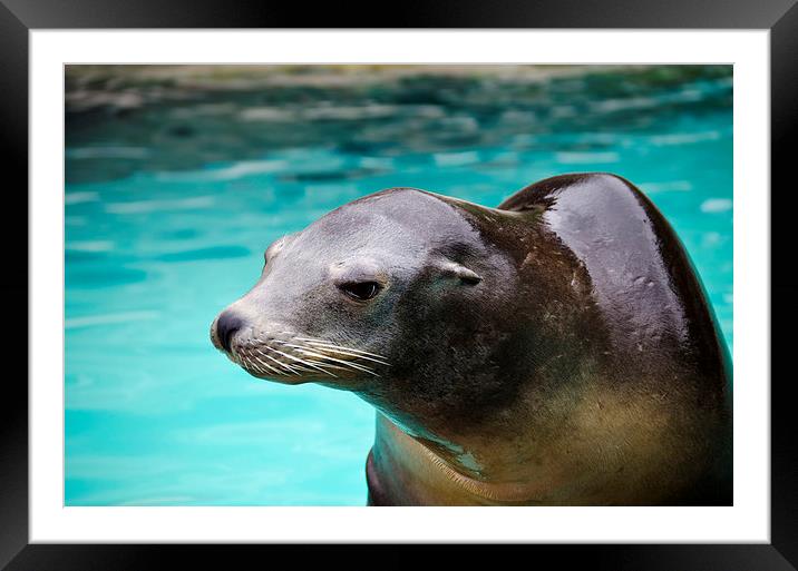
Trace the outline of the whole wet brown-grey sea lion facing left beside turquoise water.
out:
<instances>
[{"instance_id":1,"label":"whole wet brown-grey sea lion facing left beside turquoise water","mask_svg":"<svg viewBox=\"0 0 798 571\"><path fill-rule=\"evenodd\" d=\"M728 351L675 233L614 175L498 208L349 203L272 244L211 336L377 408L370 505L731 503Z\"/></svg>"}]
</instances>

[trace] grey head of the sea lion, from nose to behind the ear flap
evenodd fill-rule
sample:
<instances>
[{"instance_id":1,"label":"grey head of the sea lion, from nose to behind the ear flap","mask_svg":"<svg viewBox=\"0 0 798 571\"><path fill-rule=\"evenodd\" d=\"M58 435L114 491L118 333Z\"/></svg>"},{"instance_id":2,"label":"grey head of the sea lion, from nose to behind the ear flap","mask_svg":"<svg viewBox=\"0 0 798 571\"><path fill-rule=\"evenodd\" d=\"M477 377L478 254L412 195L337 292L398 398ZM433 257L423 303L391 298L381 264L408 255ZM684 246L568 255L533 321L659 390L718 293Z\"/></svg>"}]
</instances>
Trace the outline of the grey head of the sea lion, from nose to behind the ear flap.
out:
<instances>
[{"instance_id":1,"label":"grey head of the sea lion, from nose to behind the ear flap","mask_svg":"<svg viewBox=\"0 0 798 571\"><path fill-rule=\"evenodd\" d=\"M429 401L476 382L514 277L470 207L481 208L392 188L278 239L214 321L213 344L256 377L351 390L395 419L413 408L402 393Z\"/></svg>"}]
</instances>

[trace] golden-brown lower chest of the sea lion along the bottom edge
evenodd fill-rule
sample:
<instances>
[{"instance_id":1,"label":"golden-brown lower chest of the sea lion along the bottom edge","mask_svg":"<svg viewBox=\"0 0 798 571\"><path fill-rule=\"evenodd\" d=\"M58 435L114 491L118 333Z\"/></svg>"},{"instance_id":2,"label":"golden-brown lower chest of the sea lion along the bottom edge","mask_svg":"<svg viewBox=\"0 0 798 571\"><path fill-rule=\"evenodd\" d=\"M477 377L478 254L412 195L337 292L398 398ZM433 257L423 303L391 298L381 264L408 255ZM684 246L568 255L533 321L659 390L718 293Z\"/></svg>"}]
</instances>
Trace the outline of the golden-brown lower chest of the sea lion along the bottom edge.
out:
<instances>
[{"instance_id":1,"label":"golden-brown lower chest of the sea lion along the bottom edge","mask_svg":"<svg viewBox=\"0 0 798 571\"><path fill-rule=\"evenodd\" d=\"M665 505L711 475L716 442L685 441L717 419L688 421L689 403L630 393L593 378L551 398L548 422L518 433L429 440L377 415L367 474L372 503L389 505ZM576 402L566 408L565 402ZM520 414L518 412L515 413ZM645 417L641 425L638 419ZM680 470L671 470L677 463ZM711 481L711 478L709 478ZM379 494L385 494L379 496Z\"/></svg>"}]
</instances>

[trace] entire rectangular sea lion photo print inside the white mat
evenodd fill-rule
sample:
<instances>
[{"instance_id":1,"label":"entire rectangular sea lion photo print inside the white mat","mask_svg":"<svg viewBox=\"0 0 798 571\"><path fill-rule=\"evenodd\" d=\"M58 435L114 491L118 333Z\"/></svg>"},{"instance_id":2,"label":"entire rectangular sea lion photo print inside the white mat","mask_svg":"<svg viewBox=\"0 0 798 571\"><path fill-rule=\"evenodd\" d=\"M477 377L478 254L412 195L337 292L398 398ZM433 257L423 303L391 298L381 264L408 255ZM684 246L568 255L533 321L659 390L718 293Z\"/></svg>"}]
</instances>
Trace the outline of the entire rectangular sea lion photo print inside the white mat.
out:
<instances>
[{"instance_id":1,"label":"entire rectangular sea lion photo print inside the white mat","mask_svg":"<svg viewBox=\"0 0 798 571\"><path fill-rule=\"evenodd\" d=\"M66 505L731 505L732 69L66 66Z\"/></svg>"}]
</instances>

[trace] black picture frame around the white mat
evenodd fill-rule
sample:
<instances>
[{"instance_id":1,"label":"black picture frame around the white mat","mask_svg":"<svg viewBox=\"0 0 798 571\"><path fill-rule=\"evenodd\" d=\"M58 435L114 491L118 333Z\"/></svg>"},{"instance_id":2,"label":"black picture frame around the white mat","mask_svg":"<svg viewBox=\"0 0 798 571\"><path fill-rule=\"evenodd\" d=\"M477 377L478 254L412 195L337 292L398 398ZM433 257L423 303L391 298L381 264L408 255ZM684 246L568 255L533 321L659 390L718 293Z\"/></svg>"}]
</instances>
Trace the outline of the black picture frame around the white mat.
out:
<instances>
[{"instance_id":1,"label":"black picture frame around the white mat","mask_svg":"<svg viewBox=\"0 0 798 571\"><path fill-rule=\"evenodd\" d=\"M535 558L609 569L788 570L798 567L798 415L794 414L795 375L779 374L796 323L798 284L790 262L795 240L787 226L786 201L795 187L789 142L798 115L798 4L796 0L445 0L385 7L330 2L239 6L221 0L0 0L0 164L3 207L0 224L4 303L3 383L0 388L0 567L8 569L147 569L168 559L227 565L233 550L254 555L283 550L274 545L88 545L29 544L27 360L20 345L28 331L28 32L32 29L94 28L639 28L770 30L771 81L771 543L769 544L591 544L529 545ZM385 14L385 16L383 16ZM792 184L790 184L792 183ZM762 189L766 190L766 189ZM768 194L763 193L767 199ZM776 207L778 198L778 207ZM26 213L25 215L22 213ZM23 247L25 243L25 247ZM743 277L740 277L745 279ZM25 326L22 324L26 324ZM778 334L778 332L784 332ZM778 358L777 354L779 355ZM11 355L14 358L11 360ZM14 362L19 370L9 365ZM782 367L786 368L786 367ZM767 378L738 382L766 383ZM292 564L314 555L293 550ZM359 551L359 559L370 558ZM271 554L271 553L270 553ZM409 560L410 561L410 560ZM539 560L538 560L539 561ZM267 564L264 562L263 564ZM185 565L182 565L185 567Z\"/></svg>"}]
</instances>

